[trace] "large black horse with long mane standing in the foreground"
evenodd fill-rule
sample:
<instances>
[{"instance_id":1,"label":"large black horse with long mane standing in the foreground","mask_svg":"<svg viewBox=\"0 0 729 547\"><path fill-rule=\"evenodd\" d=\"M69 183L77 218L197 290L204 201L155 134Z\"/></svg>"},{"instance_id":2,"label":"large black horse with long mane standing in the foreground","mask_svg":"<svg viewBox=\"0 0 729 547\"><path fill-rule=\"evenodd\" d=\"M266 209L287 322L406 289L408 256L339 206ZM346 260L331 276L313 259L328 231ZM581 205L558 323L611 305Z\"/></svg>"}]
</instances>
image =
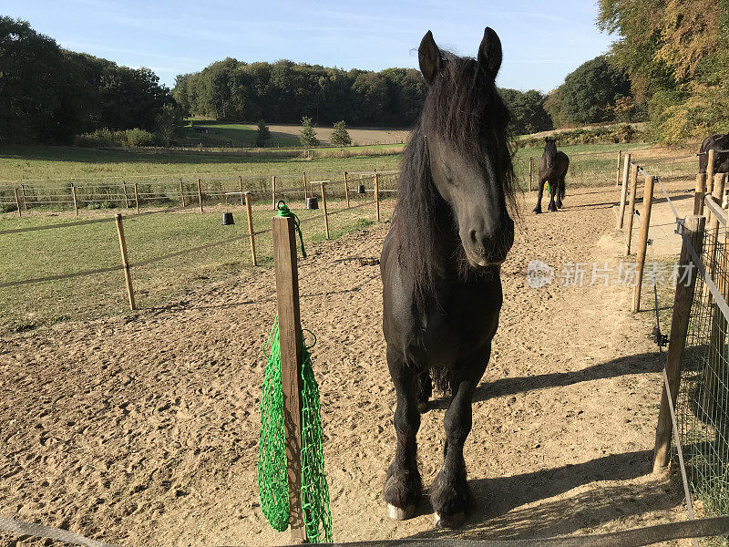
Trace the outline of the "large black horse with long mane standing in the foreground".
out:
<instances>
[{"instance_id":1,"label":"large black horse with long mane standing in the foreground","mask_svg":"<svg viewBox=\"0 0 729 547\"><path fill-rule=\"evenodd\" d=\"M392 518L415 513L419 406L426 406L432 372L453 398L431 501L436 526L456 527L471 503L463 459L471 402L498 326L500 264L514 242L509 115L494 83L501 43L490 28L477 59L441 51L430 32L418 57L428 92L405 151L381 261L387 365L397 396L385 501Z\"/></svg>"}]
</instances>

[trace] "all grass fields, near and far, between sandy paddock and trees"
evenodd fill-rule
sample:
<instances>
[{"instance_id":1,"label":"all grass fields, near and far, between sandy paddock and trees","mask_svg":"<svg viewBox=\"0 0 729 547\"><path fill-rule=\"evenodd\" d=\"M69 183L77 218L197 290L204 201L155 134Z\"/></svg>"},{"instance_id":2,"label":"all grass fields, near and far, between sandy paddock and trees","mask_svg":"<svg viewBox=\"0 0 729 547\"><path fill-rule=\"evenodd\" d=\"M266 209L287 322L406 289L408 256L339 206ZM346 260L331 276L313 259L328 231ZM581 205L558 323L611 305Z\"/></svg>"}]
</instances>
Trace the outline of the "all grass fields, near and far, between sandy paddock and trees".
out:
<instances>
[{"instance_id":1,"label":"all grass fields, near and far, between sandy paddock and trees","mask_svg":"<svg viewBox=\"0 0 729 547\"><path fill-rule=\"evenodd\" d=\"M617 167L617 150L632 150L633 160L652 173L693 181L696 171L695 158L691 150L667 150L648 148L646 145L580 145L563 147L570 155L570 173L567 178L568 196L570 188L578 186L604 186L614 184ZM529 157L534 158L534 182L537 181L537 165L541 150L520 149L515 157L515 170L519 183L526 190L529 180ZM253 184L258 190L259 203L254 210L255 230L270 228L272 212L270 202L270 180L273 173L288 173L282 176L278 188L296 186L301 183L300 173L306 170L333 171L330 210L342 207L335 201L334 191L341 199L341 173L344 170L393 170L398 166L400 156L362 156L354 158L325 158L315 160L277 159L261 160L241 158L231 154L215 152L122 152L97 151L65 147L15 147L0 150L0 165L3 179L64 179L72 177L129 177L142 175L143 180L168 180L169 197L150 201L143 211L163 206L177 206L174 191L176 175L186 173L203 178L206 191L218 188L218 197L210 197L205 203L205 212L197 212L192 206L183 212L149 214L137 217L130 210L122 208L121 202L108 201L109 210L83 210L79 217L68 211L69 202L61 207L66 211L40 207L24 212L22 218L16 212L0 214L0 232L79 219L107 218L115 212L125 215L130 263L139 263L149 258L182 249L205 245L247 233L245 214L240 201L232 199L229 205L221 204L221 192L235 191L238 187L236 173L260 174L260 178L248 178L246 188ZM220 173L230 173L221 175ZM335 175L335 176L334 176ZM314 179L315 180L315 179ZM383 177L382 187L395 188L396 178ZM104 181L104 180L102 180ZM311 181L311 179L310 179ZM359 180L350 180L350 190ZM371 178L366 181L371 190ZM62 182L46 182L61 184ZM99 181L75 181L79 192L84 184L99 184ZM118 181L104 182L113 187ZM32 183L28 183L32 186ZM214 184L218 184L217 187ZM259 186L260 185L260 186ZM314 191L318 193L318 189ZM197 191L190 185L186 188L189 201L197 201ZM393 194L386 193L385 197ZM191 199L190 199L191 196ZM303 232L308 243L323 238L321 220L306 222L306 219L320 212L303 209L301 191L288 194L286 199L304 221ZM353 196L353 199L372 199ZM568 198L569 199L569 198ZM355 201L356 202L356 201ZM355 203L354 202L354 203ZM353 203L353 204L354 204ZM568 201L569 204L569 201ZM114 209L118 206L118 209ZM221 226L221 212L233 211L236 224ZM389 209L388 209L389 211ZM340 213L330 217L333 236L354 230L371 222L371 207ZM262 264L271 261L271 240L262 235L256 240ZM102 222L59 228L47 231L0 234L0 283L22 279L39 278L55 274L69 274L87 269L117 266L120 263L117 232L113 222ZM184 254L180 257L160 261L139 268L133 268L132 277L140 307L162 305L170 300L184 297L193 286L210 284L231 274L240 274L252 268L248 239L226 243L211 249ZM128 310L124 291L123 273L114 271L54 282L25 284L0 289L0 335L49 325L68 319L93 319L103 315L125 313Z\"/></svg>"}]
</instances>

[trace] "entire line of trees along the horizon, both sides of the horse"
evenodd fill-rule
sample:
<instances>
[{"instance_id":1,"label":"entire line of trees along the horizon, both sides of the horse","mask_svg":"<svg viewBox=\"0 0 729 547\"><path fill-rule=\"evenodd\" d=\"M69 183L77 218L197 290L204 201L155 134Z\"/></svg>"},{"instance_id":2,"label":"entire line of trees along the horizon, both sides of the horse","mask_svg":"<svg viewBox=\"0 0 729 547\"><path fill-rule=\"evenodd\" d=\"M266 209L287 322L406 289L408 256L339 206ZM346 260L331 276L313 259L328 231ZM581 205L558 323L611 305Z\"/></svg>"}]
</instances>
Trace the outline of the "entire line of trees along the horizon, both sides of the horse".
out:
<instances>
[{"instance_id":1,"label":"entire line of trees along the horizon, both sides of the horse","mask_svg":"<svg viewBox=\"0 0 729 547\"><path fill-rule=\"evenodd\" d=\"M712 8L699 0L600 0L599 10L601 30L619 36L609 54L583 63L547 94L500 89L513 134L648 119L654 139L673 143L729 129L729 0ZM149 68L68 51L25 21L0 16L0 142L141 129L164 143L179 132L183 114L408 127L426 92L413 68L231 57L178 76L170 91Z\"/></svg>"}]
</instances>

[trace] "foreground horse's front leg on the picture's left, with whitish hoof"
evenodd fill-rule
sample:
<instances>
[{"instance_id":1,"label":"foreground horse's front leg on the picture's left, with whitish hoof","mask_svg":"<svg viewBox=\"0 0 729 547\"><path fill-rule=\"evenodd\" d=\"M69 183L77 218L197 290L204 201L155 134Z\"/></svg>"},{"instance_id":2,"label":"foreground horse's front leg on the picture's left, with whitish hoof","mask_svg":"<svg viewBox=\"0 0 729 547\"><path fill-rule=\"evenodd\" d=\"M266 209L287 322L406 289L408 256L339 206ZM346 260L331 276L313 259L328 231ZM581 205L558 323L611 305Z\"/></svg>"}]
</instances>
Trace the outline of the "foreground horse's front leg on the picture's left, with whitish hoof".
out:
<instances>
[{"instance_id":1,"label":"foreground horse's front leg on the picture's left, with whitish hoof","mask_svg":"<svg viewBox=\"0 0 729 547\"><path fill-rule=\"evenodd\" d=\"M417 470L416 434L420 428L417 408L418 378L404 357L387 348L387 366L395 384L395 458L387 470L385 502L387 516L403 521L415 516L416 505L423 492L423 482Z\"/></svg>"}]
</instances>

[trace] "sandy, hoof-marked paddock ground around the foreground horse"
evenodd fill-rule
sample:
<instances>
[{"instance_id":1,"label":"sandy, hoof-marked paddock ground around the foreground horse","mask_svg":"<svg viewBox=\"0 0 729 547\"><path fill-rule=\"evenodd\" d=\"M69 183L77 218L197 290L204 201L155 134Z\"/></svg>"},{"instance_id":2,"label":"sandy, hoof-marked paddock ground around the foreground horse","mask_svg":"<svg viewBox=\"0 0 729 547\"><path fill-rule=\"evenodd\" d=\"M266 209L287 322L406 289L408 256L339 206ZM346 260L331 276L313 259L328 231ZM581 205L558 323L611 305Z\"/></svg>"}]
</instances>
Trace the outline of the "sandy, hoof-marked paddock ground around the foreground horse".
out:
<instances>
[{"instance_id":1,"label":"sandy, hoof-marked paddock ground around the foreground horse","mask_svg":"<svg viewBox=\"0 0 729 547\"><path fill-rule=\"evenodd\" d=\"M543 537L685 518L679 490L651 474L661 387L652 310L631 315L623 286L587 286L591 263L621 260L616 193L569 192L564 211L541 215L527 196L467 441L478 505L455 532L433 530L427 501L410 521L385 518L394 391L378 267L357 259L379 255L388 226L310 250L302 316L319 340L336 541ZM529 287L532 259L555 269L552 284ZM590 264L585 286L562 286L565 263ZM288 542L264 520L256 487L272 291L261 269L163 308L3 341L0 515L128 547ZM436 399L418 435L426 485L442 460L446 407ZM0 544L52 543L0 533Z\"/></svg>"}]
</instances>

